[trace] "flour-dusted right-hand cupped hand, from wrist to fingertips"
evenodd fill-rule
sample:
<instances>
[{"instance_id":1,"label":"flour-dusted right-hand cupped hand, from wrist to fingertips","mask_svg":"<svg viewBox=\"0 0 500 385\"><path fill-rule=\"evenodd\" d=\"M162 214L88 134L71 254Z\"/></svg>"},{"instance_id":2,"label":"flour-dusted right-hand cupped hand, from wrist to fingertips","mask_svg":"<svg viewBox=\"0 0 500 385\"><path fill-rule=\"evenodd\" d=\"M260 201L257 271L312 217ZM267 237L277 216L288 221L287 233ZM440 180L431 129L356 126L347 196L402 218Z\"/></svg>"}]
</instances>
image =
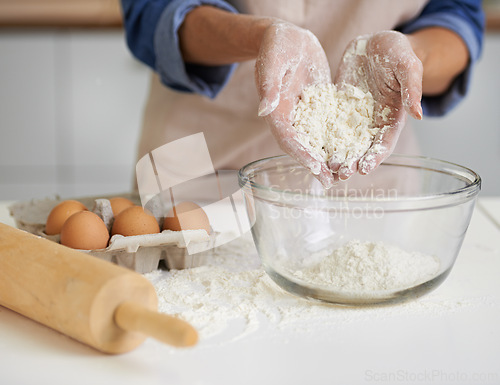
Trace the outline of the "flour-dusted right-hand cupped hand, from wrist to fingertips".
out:
<instances>
[{"instance_id":1,"label":"flour-dusted right-hand cupped hand, from wrist to fingertips","mask_svg":"<svg viewBox=\"0 0 500 385\"><path fill-rule=\"evenodd\" d=\"M349 44L334 83L338 88L352 84L372 94L374 125L379 131L360 159L329 161L340 179L356 171L368 174L378 167L394 150L407 113L422 119L422 75L422 63L402 33L379 32Z\"/></svg>"}]
</instances>

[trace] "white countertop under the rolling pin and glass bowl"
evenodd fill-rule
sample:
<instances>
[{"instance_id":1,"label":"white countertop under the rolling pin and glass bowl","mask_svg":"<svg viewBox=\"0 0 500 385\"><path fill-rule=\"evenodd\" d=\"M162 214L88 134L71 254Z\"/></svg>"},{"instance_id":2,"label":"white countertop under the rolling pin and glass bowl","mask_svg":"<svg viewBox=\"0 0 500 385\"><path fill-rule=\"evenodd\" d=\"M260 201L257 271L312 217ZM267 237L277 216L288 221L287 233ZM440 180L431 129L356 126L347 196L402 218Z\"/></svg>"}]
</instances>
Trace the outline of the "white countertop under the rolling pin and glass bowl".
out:
<instances>
[{"instance_id":1,"label":"white countertop under the rolling pin and glass bowl","mask_svg":"<svg viewBox=\"0 0 500 385\"><path fill-rule=\"evenodd\" d=\"M13 225L8 204L0 222ZM189 349L148 339L104 355L0 307L0 383L500 384L499 224L500 199L480 199L451 274L410 305L332 306L331 322L263 320Z\"/></svg>"}]
</instances>

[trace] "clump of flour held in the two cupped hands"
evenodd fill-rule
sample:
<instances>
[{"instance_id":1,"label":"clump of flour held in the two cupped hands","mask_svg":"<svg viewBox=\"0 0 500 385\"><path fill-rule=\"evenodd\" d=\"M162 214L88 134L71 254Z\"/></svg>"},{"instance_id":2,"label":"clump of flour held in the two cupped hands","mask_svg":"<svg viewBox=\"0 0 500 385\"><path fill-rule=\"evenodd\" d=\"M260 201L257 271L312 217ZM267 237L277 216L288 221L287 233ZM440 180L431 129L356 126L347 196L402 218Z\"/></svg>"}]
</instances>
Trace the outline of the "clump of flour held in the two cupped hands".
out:
<instances>
[{"instance_id":1,"label":"clump of flour held in the two cupped hands","mask_svg":"<svg viewBox=\"0 0 500 385\"><path fill-rule=\"evenodd\" d=\"M325 161L350 163L371 146L378 129L373 127L374 100L350 84L316 84L302 92L295 108L293 127L298 140Z\"/></svg>"}]
</instances>

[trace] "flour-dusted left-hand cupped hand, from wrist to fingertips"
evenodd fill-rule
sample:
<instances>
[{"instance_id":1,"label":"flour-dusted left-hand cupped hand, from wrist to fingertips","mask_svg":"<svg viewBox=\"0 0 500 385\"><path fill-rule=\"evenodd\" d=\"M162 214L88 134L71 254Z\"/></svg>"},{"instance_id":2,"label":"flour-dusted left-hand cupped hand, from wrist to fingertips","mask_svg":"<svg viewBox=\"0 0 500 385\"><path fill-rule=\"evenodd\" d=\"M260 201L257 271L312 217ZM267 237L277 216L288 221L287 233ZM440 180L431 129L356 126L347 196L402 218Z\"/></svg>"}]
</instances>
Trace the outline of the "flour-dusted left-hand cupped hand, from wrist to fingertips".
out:
<instances>
[{"instance_id":1,"label":"flour-dusted left-hand cupped hand, from wrist to fingertips","mask_svg":"<svg viewBox=\"0 0 500 385\"><path fill-rule=\"evenodd\" d=\"M259 116L266 118L281 149L309 169L323 186L331 187L336 178L326 161L300 144L292 127L302 90L312 84L331 83L328 60L316 36L284 21L272 23L262 39L255 79Z\"/></svg>"}]
</instances>

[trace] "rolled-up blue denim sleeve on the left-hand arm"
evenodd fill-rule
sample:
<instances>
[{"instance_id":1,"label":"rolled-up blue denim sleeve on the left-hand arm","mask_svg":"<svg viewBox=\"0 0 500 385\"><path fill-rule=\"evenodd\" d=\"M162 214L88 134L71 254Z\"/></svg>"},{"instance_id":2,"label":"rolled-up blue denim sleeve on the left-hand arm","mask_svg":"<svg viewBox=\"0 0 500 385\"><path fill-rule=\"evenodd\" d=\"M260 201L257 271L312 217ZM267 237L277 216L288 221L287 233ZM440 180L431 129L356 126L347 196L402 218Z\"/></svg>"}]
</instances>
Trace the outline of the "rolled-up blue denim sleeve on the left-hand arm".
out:
<instances>
[{"instance_id":1,"label":"rolled-up blue denim sleeve on the left-hand arm","mask_svg":"<svg viewBox=\"0 0 500 385\"><path fill-rule=\"evenodd\" d=\"M167 87L214 98L237 64L184 63L177 32L186 15L200 5L237 12L222 0L122 0L125 33L133 55L156 71Z\"/></svg>"}]
</instances>

